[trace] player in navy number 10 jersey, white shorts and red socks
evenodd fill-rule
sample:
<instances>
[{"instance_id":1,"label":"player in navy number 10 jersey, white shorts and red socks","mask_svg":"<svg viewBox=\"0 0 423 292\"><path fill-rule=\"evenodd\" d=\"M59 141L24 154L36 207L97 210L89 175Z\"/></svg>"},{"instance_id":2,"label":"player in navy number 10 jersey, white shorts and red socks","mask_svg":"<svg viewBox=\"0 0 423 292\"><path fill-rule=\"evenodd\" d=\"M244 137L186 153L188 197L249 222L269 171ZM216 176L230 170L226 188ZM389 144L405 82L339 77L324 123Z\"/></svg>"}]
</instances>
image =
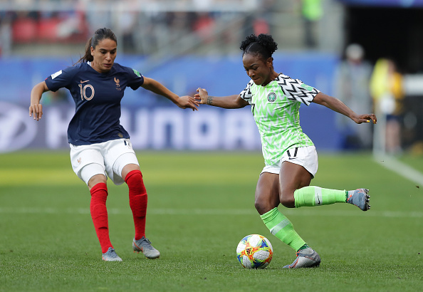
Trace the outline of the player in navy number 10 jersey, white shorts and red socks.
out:
<instances>
[{"instance_id":1,"label":"player in navy number 10 jersey, white shorts and red socks","mask_svg":"<svg viewBox=\"0 0 423 292\"><path fill-rule=\"evenodd\" d=\"M87 43L85 56L75 66L48 76L31 90L29 115L43 116L41 95L48 90L67 88L75 101L75 115L68 126L73 170L90 189L90 213L100 241L104 261L122 261L110 243L108 228L107 178L127 183L135 224L132 249L147 258L160 256L145 237L147 192L130 135L120 125L120 101L126 88L145 88L172 100L179 108L197 110L194 98L179 97L161 83L138 71L115 63L117 41L113 31L100 28Z\"/></svg>"}]
</instances>

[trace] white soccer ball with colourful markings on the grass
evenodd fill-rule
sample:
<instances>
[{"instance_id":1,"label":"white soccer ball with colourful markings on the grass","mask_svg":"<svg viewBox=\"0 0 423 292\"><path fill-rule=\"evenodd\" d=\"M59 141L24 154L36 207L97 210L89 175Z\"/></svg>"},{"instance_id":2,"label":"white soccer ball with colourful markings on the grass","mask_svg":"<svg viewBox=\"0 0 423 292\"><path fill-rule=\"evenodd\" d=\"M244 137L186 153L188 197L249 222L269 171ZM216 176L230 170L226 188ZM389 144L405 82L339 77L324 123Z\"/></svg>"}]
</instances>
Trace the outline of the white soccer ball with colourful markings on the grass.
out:
<instances>
[{"instance_id":1,"label":"white soccer ball with colourful markings on the grass","mask_svg":"<svg viewBox=\"0 0 423 292\"><path fill-rule=\"evenodd\" d=\"M236 258L244 268L266 268L273 256L273 247L266 237L250 234L236 246Z\"/></svg>"}]
</instances>

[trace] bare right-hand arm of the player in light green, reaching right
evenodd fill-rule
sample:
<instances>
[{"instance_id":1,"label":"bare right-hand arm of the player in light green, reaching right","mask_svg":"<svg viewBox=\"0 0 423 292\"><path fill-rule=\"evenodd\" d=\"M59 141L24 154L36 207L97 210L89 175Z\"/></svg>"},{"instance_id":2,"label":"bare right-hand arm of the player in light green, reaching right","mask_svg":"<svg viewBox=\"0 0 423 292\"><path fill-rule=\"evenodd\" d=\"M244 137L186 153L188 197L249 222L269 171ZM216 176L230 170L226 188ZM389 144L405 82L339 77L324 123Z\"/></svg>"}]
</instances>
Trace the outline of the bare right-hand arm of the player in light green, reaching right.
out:
<instances>
[{"instance_id":1,"label":"bare right-hand arm of the player in light green, reaching right","mask_svg":"<svg viewBox=\"0 0 423 292\"><path fill-rule=\"evenodd\" d=\"M315 95L313 99L313 103L318 103L319 105L324 105L326 108L330 108L337 113L342 113L346 115L348 118L356 122L357 124L361 124L362 122L370 122L372 121L374 124L377 122L376 115L373 113L368 113L364 115L358 115L354 113L350 108L348 108L345 103L338 100L338 98L333 98L332 96L326 95L325 93L318 93Z\"/></svg>"}]
</instances>

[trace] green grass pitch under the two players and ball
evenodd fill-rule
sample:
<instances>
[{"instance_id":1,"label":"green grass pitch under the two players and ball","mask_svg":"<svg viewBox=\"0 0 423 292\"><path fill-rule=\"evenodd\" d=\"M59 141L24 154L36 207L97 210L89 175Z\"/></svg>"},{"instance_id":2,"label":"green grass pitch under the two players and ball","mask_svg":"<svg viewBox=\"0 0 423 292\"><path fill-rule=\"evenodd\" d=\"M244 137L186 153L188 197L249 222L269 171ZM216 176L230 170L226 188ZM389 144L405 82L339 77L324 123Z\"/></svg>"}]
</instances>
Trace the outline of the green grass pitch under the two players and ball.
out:
<instances>
[{"instance_id":1,"label":"green grass pitch under the two players and ball","mask_svg":"<svg viewBox=\"0 0 423 292\"><path fill-rule=\"evenodd\" d=\"M121 263L101 261L89 192L67 152L0 155L0 291L422 291L423 186L370 155L320 155L312 182L369 188L369 212L350 204L280 207L322 257L319 268L289 271L282 266L294 251L254 210L260 153L137 155L149 195L147 236L162 256L132 253L127 187L109 181L110 237ZM254 233L273 244L264 270L236 261L239 240Z\"/></svg>"}]
</instances>

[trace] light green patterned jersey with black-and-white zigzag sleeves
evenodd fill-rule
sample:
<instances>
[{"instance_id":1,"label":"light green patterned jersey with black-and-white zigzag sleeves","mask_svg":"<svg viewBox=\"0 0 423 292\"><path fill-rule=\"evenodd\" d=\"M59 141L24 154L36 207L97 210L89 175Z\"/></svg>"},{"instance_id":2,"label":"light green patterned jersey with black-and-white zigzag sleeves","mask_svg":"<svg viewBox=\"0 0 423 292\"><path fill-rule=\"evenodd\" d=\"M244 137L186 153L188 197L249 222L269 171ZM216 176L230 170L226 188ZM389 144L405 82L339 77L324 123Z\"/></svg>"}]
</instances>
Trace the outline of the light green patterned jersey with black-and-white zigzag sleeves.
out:
<instances>
[{"instance_id":1,"label":"light green patterned jersey with black-and-white zigzag sleeves","mask_svg":"<svg viewBox=\"0 0 423 292\"><path fill-rule=\"evenodd\" d=\"M282 73L266 86L257 86L251 80L242 90L240 96L251 105L260 132L266 165L278 167L283 153L293 145L313 146L313 142L301 130L298 110L301 103L309 105L319 92L301 80L291 79Z\"/></svg>"}]
</instances>

